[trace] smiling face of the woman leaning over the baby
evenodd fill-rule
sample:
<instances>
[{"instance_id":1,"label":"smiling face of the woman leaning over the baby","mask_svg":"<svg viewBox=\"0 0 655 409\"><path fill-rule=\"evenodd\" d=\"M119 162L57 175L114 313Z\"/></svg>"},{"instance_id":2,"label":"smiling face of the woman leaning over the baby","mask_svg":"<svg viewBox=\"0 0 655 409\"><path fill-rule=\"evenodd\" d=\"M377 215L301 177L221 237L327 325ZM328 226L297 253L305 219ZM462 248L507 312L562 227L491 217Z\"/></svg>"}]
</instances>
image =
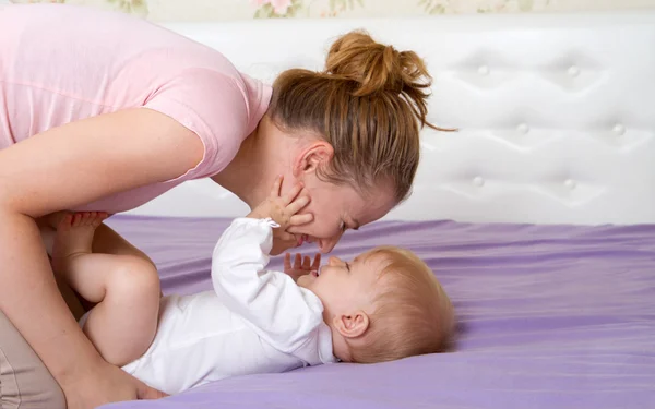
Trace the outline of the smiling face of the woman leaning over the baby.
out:
<instances>
[{"instance_id":1,"label":"smiling face of the woman leaning over the baby","mask_svg":"<svg viewBox=\"0 0 655 409\"><path fill-rule=\"evenodd\" d=\"M315 242L322 253L332 251L346 230L378 220L396 205L390 183L379 184L365 195L349 184L322 181L315 173L302 182L311 202L299 214L313 214L313 221L288 231L299 239L299 245Z\"/></svg>"}]
</instances>

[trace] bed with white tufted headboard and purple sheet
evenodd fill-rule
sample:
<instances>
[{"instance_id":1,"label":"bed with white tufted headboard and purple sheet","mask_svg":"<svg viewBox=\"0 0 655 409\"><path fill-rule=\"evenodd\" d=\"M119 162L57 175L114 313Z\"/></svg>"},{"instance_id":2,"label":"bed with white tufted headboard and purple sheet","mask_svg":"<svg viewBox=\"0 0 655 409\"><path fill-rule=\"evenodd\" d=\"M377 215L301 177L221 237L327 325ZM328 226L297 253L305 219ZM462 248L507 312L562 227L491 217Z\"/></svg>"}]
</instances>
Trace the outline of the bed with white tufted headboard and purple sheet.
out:
<instances>
[{"instance_id":1,"label":"bed with white tufted headboard and purple sheet","mask_svg":"<svg viewBox=\"0 0 655 409\"><path fill-rule=\"evenodd\" d=\"M414 195L334 254L414 250L454 301L457 341L103 409L655 407L655 12L168 27L263 80L320 68L357 27L426 58L431 120L460 132L426 131ZM188 293L211 288L211 250L245 212L203 180L109 224L157 263L165 293Z\"/></svg>"}]
</instances>

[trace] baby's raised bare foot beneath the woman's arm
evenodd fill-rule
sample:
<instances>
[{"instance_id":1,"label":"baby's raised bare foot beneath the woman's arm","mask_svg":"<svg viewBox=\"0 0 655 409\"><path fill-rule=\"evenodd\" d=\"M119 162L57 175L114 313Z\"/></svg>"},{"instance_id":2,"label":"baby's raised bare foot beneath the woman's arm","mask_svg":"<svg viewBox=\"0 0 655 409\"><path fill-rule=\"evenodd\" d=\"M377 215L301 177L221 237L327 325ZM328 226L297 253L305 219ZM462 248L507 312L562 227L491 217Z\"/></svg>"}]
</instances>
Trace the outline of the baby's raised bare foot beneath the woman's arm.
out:
<instances>
[{"instance_id":1,"label":"baby's raised bare foot beneath the woman's arm","mask_svg":"<svg viewBox=\"0 0 655 409\"><path fill-rule=\"evenodd\" d=\"M82 212L60 214L52 245L52 261L91 253L93 236L106 213Z\"/></svg>"}]
</instances>

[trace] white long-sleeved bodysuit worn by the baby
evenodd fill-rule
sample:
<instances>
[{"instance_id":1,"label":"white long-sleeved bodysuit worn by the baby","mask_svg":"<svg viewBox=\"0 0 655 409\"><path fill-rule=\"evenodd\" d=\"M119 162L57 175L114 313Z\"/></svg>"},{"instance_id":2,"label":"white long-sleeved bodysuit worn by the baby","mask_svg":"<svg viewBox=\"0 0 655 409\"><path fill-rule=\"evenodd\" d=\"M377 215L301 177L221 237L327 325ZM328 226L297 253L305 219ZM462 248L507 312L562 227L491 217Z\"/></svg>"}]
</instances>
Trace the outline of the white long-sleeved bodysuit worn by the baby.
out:
<instances>
[{"instance_id":1,"label":"white long-sleeved bodysuit worn by the baby","mask_svg":"<svg viewBox=\"0 0 655 409\"><path fill-rule=\"evenodd\" d=\"M319 298L265 269L272 226L236 219L214 249L215 291L163 298L153 345L123 370L175 394L228 376L335 362Z\"/></svg>"}]
</instances>

